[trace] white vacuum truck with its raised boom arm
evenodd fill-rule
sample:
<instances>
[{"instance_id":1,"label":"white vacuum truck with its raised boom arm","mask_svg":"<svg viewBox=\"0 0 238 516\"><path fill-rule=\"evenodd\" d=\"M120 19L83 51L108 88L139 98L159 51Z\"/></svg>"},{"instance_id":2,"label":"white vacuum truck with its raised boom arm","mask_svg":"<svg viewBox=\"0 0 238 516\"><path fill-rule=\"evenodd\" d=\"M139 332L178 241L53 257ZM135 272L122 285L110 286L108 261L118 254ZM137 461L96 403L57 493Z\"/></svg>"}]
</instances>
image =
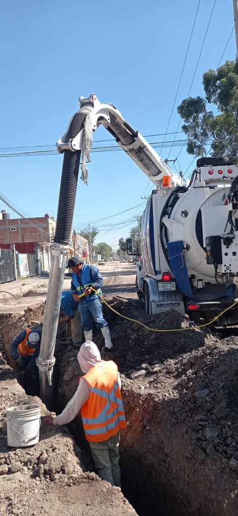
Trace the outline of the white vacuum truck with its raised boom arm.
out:
<instances>
[{"instance_id":1,"label":"white vacuum truck with its raised boom arm","mask_svg":"<svg viewBox=\"0 0 238 516\"><path fill-rule=\"evenodd\" d=\"M80 107L79 114L87 113L83 127L74 138L67 130L57 149L82 151L83 179L92 135L102 124L155 185L142 216L136 276L146 313L174 308L198 321L230 307L237 296L238 167L222 158L200 158L185 180L113 104L101 103L92 93L80 97ZM131 244L129 239L128 254L134 254ZM237 320L235 305L220 322Z\"/></svg>"}]
</instances>

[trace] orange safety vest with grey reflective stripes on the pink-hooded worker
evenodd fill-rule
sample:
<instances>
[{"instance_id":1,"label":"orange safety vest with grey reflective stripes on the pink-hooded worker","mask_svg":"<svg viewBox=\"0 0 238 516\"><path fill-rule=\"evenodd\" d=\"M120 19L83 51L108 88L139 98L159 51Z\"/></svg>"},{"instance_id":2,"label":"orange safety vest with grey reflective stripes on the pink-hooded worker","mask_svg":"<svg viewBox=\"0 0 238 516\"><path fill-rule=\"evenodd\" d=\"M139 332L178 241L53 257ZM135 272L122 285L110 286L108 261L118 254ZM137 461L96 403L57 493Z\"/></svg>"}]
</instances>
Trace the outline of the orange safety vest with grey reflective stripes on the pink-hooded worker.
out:
<instances>
[{"instance_id":1,"label":"orange safety vest with grey reflective stripes on the pink-hooded worker","mask_svg":"<svg viewBox=\"0 0 238 516\"><path fill-rule=\"evenodd\" d=\"M90 394L81 407L85 437L90 442L102 442L126 428L125 413L118 384L116 364L110 360L94 365L83 376Z\"/></svg>"}]
</instances>

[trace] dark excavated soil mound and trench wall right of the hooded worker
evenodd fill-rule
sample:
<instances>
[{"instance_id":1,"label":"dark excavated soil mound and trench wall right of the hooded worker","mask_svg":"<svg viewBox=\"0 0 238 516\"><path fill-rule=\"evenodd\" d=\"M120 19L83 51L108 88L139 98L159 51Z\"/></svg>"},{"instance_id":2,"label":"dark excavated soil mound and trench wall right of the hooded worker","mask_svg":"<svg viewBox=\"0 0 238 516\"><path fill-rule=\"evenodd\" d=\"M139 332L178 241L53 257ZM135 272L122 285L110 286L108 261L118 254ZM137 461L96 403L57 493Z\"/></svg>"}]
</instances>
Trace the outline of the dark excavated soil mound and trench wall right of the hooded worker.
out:
<instances>
[{"instance_id":1,"label":"dark excavated soil mound and trench wall right of the hooded worker","mask_svg":"<svg viewBox=\"0 0 238 516\"><path fill-rule=\"evenodd\" d=\"M219 338L191 329L176 312L145 318L135 301L114 301L125 315L153 328L186 328L152 333L106 314L114 349L102 351L122 376L128 428L121 432L122 489L138 514L160 516L236 516L238 509L238 338ZM39 309L41 310L41 309ZM15 333L30 320L10 317L3 325ZM100 333L94 340L102 349ZM76 351L57 338L58 411L74 394L82 374ZM90 463L80 416L70 425Z\"/></svg>"}]
</instances>

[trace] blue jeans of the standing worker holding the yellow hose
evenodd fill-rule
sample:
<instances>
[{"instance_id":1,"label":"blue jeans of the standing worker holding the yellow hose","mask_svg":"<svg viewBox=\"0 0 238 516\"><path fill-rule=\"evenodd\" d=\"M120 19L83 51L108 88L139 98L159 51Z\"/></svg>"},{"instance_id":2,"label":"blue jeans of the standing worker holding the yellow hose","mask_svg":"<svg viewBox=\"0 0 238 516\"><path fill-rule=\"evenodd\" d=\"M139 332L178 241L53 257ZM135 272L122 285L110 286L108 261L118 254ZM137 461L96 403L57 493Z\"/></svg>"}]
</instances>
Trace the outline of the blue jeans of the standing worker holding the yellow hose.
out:
<instances>
[{"instance_id":1,"label":"blue jeans of the standing worker holding the yellow hose","mask_svg":"<svg viewBox=\"0 0 238 516\"><path fill-rule=\"evenodd\" d=\"M97 328L104 328L107 325L107 321L103 318L102 303L99 297L90 299L90 301L80 301L78 303L78 310L82 320L82 326L84 330L92 330L92 318L96 322Z\"/></svg>"}]
</instances>

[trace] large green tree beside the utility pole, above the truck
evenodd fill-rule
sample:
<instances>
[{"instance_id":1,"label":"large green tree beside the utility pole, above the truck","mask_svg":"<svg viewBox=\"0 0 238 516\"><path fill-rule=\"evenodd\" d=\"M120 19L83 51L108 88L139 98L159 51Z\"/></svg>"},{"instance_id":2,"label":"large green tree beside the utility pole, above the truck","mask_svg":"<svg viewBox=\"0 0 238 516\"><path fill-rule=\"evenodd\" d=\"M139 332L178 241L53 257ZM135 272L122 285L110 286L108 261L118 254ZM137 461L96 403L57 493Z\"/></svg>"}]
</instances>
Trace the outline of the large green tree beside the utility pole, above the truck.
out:
<instances>
[{"instance_id":1,"label":"large green tree beside the utility pole, above the truck","mask_svg":"<svg viewBox=\"0 0 238 516\"><path fill-rule=\"evenodd\" d=\"M187 135L187 152L205 154L205 142L212 140L213 157L227 157L237 162L238 155L238 62L226 61L217 71L203 74L205 92L189 97L178 106ZM211 105L212 109L209 109Z\"/></svg>"}]
</instances>

